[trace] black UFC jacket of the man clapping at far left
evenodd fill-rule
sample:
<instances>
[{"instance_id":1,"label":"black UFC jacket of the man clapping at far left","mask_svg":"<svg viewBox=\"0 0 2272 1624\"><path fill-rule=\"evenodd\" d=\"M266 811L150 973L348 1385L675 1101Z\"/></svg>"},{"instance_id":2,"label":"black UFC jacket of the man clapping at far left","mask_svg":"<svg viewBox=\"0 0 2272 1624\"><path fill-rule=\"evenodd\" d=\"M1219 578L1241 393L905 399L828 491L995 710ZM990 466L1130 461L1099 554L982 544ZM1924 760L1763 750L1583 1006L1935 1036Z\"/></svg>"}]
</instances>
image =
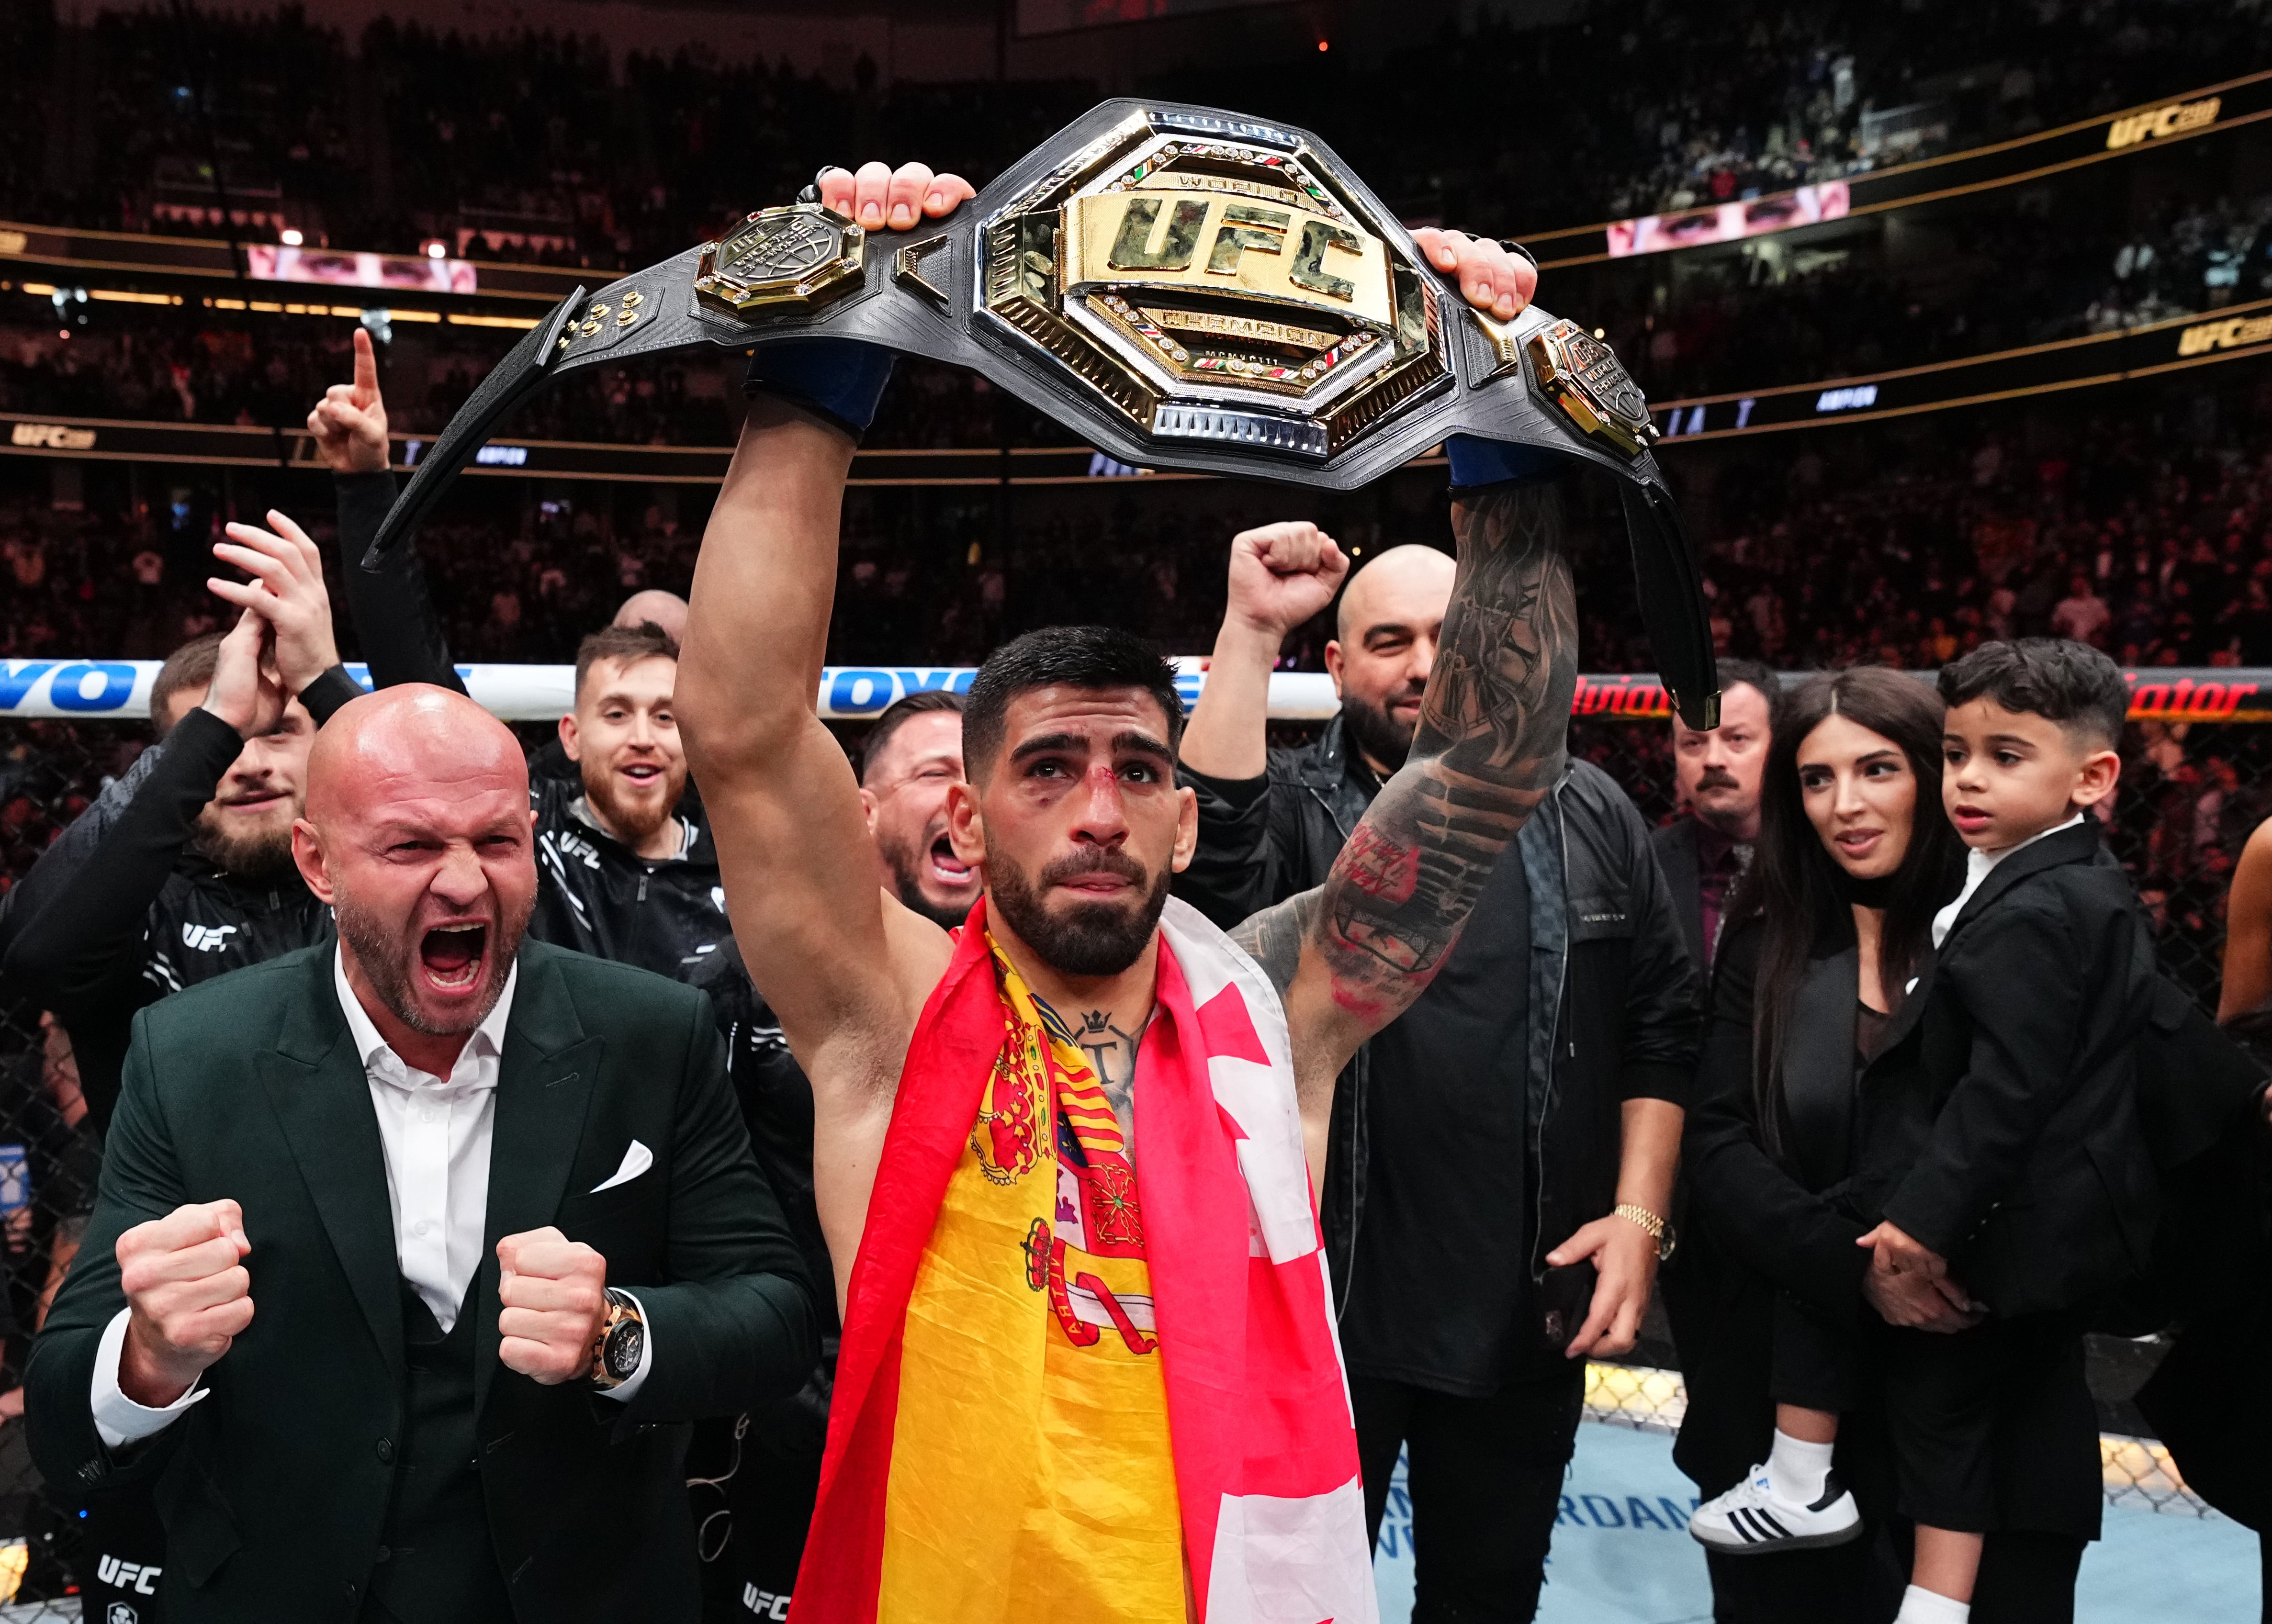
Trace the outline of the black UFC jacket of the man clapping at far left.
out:
<instances>
[{"instance_id":1,"label":"black UFC jacket of the man clapping at far left","mask_svg":"<svg viewBox=\"0 0 2272 1624\"><path fill-rule=\"evenodd\" d=\"M320 725L357 693L334 668L300 697ZM0 897L0 986L61 1020L98 1129L118 1104L134 1011L334 936L295 872L248 881L191 849L241 750L234 727L191 711Z\"/></svg>"}]
</instances>

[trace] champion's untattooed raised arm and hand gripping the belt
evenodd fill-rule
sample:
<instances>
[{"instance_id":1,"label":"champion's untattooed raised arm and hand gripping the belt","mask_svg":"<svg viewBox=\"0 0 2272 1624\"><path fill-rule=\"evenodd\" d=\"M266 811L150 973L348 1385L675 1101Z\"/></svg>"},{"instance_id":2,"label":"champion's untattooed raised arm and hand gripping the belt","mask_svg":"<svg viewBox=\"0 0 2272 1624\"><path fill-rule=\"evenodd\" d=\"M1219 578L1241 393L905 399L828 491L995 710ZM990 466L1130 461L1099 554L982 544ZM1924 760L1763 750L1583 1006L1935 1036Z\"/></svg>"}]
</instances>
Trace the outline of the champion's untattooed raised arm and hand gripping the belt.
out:
<instances>
[{"instance_id":1,"label":"champion's untattooed raised arm and hand gripping the belt","mask_svg":"<svg viewBox=\"0 0 2272 1624\"><path fill-rule=\"evenodd\" d=\"M952 175L872 164L859 177L832 170L822 195L872 229L904 229L972 193ZM888 354L857 343L759 352L702 534L677 681L734 940L813 1081L813 1192L838 1283L907 1038L950 952L945 931L877 886L852 763L813 713L845 475L886 375Z\"/></svg>"}]
</instances>

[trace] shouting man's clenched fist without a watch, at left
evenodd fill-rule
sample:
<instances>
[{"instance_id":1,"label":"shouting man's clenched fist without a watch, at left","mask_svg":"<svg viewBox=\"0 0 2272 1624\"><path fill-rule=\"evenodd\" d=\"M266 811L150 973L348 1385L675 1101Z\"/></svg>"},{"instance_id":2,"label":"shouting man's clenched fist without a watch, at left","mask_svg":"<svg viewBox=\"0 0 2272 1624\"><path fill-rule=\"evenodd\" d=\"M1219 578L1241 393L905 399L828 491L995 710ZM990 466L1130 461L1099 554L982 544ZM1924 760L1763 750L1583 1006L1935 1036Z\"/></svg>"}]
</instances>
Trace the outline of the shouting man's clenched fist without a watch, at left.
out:
<instances>
[{"instance_id":1,"label":"shouting man's clenched fist without a watch, at left","mask_svg":"<svg viewBox=\"0 0 2272 1624\"><path fill-rule=\"evenodd\" d=\"M252 1274L243 1258L245 1213L236 1202L177 1206L118 1236L118 1286L127 1340L118 1390L161 1410L229 1351L252 1324Z\"/></svg>"}]
</instances>

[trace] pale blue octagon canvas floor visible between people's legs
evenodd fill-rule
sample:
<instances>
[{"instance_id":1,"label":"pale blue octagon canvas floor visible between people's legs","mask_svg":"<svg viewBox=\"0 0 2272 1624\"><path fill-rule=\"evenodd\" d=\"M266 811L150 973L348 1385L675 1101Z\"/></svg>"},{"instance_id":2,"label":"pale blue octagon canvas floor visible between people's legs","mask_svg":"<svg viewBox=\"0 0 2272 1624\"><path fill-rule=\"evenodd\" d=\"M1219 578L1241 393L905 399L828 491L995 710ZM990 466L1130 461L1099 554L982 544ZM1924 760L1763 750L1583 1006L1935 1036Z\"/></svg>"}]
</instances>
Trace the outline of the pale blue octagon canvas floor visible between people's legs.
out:
<instances>
[{"instance_id":1,"label":"pale blue octagon canvas floor visible between people's legs","mask_svg":"<svg viewBox=\"0 0 2272 1624\"><path fill-rule=\"evenodd\" d=\"M1704 1556L1688 1538L1695 1490L1672 1440L1586 1422L1554 1529L1540 1624L1709 1624ZM1375 1558L1381 1624L1409 1624L1411 1513L1397 1463ZM2242 1624L2258 1610L2256 1535L2224 1517L2106 1510L2083 1558L2077 1624Z\"/></svg>"}]
</instances>

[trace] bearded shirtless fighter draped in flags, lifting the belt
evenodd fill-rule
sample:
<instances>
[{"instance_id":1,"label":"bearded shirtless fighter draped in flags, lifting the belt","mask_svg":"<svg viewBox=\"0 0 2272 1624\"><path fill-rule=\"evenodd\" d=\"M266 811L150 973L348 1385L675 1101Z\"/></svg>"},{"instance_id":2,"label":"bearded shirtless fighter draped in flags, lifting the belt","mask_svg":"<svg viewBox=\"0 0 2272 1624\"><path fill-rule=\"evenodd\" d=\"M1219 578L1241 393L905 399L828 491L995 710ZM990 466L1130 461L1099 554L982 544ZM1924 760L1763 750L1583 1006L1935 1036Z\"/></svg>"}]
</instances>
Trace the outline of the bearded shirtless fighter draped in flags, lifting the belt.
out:
<instances>
[{"instance_id":1,"label":"bearded shirtless fighter draped in flags, lifting the belt","mask_svg":"<svg viewBox=\"0 0 2272 1624\"><path fill-rule=\"evenodd\" d=\"M970 195L922 166L820 177L870 232ZM1502 320L1527 302L1500 245L1420 245ZM1361 1624L1315 1172L1340 1063L1445 968L1561 777L1559 500L1456 447L1479 477L1411 756L1309 913L1259 927L1268 968L1168 895L1197 836L1181 700L1106 627L1029 631L979 670L947 834L986 879L947 936L875 884L859 784L813 713L845 477L888 370L822 341L752 361L679 679L736 940L811 1077L845 1304L797 1613ZM1545 654L1520 672L1518 620Z\"/></svg>"}]
</instances>

